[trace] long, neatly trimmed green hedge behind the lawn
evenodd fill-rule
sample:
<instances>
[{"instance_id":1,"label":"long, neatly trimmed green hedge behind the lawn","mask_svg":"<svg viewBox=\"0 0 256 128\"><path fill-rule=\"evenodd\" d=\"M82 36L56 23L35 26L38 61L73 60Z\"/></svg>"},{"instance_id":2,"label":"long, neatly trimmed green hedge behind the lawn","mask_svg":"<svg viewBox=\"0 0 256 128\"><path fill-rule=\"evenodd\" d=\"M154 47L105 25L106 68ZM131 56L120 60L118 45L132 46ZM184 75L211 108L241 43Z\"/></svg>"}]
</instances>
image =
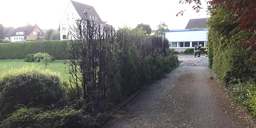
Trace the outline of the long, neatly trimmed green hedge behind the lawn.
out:
<instances>
[{"instance_id":1,"label":"long, neatly trimmed green hedge behind the lawn","mask_svg":"<svg viewBox=\"0 0 256 128\"><path fill-rule=\"evenodd\" d=\"M0 59L24 59L28 54L46 52L57 60L67 59L68 41L10 42L0 44Z\"/></svg>"}]
</instances>

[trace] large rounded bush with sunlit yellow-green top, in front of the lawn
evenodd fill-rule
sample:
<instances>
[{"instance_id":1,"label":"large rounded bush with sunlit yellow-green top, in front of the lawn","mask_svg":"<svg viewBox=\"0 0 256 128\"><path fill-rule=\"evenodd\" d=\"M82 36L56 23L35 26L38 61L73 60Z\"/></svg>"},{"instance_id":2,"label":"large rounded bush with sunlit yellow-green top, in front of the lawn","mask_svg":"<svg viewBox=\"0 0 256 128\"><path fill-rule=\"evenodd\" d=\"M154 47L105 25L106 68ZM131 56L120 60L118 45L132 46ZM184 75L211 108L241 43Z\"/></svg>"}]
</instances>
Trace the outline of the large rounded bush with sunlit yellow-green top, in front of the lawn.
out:
<instances>
[{"instance_id":1,"label":"large rounded bush with sunlit yellow-green top, in front of the lawn","mask_svg":"<svg viewBox=\"0 0 256 128\"><path fill-rule=\"evenodd\" d=\"M2 117L26 107L58 103L64 95L60 74L49 69L24 66L11 69L0 76L0 113Z\"/></svg>"}]
</instances>

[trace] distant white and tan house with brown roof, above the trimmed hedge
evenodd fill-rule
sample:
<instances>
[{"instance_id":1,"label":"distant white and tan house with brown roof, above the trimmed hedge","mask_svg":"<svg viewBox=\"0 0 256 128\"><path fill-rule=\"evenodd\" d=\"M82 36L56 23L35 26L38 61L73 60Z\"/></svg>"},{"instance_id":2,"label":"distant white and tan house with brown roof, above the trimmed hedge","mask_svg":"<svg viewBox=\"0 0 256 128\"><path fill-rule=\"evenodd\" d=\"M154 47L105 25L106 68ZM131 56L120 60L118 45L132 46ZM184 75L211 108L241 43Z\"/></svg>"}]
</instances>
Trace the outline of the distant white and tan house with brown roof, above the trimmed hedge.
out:
<instances>
[{"instance_id":1,"label":"distant white and tan house with brown roof, above the trimmed hedge","mask_svg":"<svg viewBox=\"0 0 256 128\"><path fill-rule=\"evenodd\" d=\"M43 34L42 30L37 25L18 27L10 36L10 42L43 39Z\"/></svg>"}]
</instances>

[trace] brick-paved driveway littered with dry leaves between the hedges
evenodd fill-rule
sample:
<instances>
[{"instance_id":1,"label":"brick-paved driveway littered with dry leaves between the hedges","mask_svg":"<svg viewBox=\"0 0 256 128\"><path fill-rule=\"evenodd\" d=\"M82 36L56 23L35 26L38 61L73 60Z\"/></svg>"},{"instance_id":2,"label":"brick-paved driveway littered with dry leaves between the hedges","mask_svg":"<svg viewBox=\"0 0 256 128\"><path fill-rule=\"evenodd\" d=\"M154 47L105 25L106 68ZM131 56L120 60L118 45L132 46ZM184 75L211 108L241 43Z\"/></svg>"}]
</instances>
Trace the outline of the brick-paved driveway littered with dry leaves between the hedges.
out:
<instances>
[{"instance_id":1,"label":"brick-paved driveway littered with dry leaves between the hedges","mask_svg":"<svg viewBox=\"0 0 256 128\"><path fill-rule=\"evenodd\" d=\"M200 61L204 67L181 63L141 92L107 128L252 128L225 88L209 78L214 74L203 64L207 61Z\"/></svg>"}]
</instances>

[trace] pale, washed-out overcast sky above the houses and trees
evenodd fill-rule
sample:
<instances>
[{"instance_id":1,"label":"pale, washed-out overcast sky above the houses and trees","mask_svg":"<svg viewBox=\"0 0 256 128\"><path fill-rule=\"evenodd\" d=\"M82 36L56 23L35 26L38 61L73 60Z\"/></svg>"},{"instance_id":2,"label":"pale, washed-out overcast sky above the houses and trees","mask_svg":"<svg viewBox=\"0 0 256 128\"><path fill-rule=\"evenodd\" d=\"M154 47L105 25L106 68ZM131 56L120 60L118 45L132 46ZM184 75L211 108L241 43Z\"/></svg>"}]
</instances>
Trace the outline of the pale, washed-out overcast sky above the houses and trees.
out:
<instances>
[{"instance_id":1,"label":"pale, washed-out overcast sky above the houses and trees","mask_svg":"<svg viewBox=\"0 0 256 128\"><path fill-rule=\"evenodd\" d=\"M206 12L196 13L192 6L179 4L179 0L74 0L91 5L101 20L114 28L124 24L135 28L137 24L148 24L152 30L161 22L169 29L185 29L189 19L206 18ZM69 0L3 0L0 7L0 23L4 27L38 25L41 29L58 29L59 22ZM206 7L206 5L205 5ZM176 13L187 9L183 16Z\"/></svg>"}]
</instances>

